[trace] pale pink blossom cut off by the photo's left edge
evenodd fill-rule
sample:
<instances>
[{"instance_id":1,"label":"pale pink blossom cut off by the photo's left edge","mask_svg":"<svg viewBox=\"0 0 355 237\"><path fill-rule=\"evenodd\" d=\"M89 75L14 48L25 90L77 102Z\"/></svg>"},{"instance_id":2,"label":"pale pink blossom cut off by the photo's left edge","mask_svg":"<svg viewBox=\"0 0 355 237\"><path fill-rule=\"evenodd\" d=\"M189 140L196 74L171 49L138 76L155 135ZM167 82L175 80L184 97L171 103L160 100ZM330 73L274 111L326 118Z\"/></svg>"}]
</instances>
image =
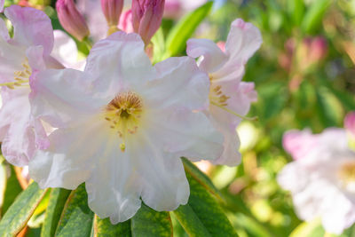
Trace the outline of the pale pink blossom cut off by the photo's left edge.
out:
<instances>
[{"instance_id":1,"label":"pale pink blossom cut off by the photo's left edge","mask_svg":"<svg viewBox=\"0 0 355 237\"><path fill-rule=\"evenodd\" d=\"M54 67L58 62L49 55L53 47L53 30L51 20L44 12L12 5L4 13L12 22L14 36L10 38L4 20L0 19L0 85L3 99L0 140L6 160L23 166L36 150L35 137L38 146L48 145L41 123L30 115L30 76L46 66Z\"/></svg>"}]
</instances>

